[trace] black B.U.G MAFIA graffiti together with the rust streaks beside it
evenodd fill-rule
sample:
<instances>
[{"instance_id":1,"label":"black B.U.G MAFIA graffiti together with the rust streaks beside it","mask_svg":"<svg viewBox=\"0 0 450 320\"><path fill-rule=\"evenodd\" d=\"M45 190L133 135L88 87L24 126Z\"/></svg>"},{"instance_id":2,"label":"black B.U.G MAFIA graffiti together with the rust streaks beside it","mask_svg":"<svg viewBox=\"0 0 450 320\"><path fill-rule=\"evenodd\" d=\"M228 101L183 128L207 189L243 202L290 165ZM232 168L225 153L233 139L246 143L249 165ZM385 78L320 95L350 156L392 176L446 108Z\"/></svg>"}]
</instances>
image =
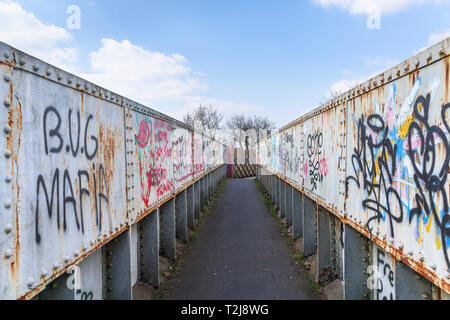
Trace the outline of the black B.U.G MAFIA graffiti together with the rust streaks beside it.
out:
<instances>
[{"instance_id":1,"label":"black B.U.G MAFIA graffiti together with the rust streaks beside it","mask_svg":"<svg viewBox=\"0 0 450 320\"><path fill-rule=\"evenodd\" d=\"M73 168L55 168L48 178L44 174L37 177L36 182L36 207L35 207L35 240L41 242L40 205L41 199L45 199L49 219L56 215L58 230L67 231L69 223L74 223L76 229L84 234L85 217L84 209L87 199L94 203L95 222L99 233L102 230L103 212L109 212L108 181L112 176L111 168L105 167L105 162L111 165L111 157L106 153L114 150L114 137L111 132L103 133L103 128L98 131L93 129L95 119L92 114L82 117L80 111L69 109L67 114L61 115L55 107L47 107L42 119L42 133L44 141L44 156L51 159L54 156L68 155L80 161L88 161L90 167L79 168L73 176ZM73 118L77 124L74 128ZM68 128L68 136L64 136L64 128ZM107 141L103 141L107 139ZM105 147L105 145L110 144ZM105 149L107 148L107 150ZM99 152L99 149L101 149ZM103 150L105 149L105 150ZM98 159L99 154L103 159ZM72 175L71 175L72 172ZM78 194L78 197L76 196ZM87 199L86 199L87 198ZM62 216L61 216L62 210ZM111 221L110 221L111 222Z\"/></svg>"}]
</instances>

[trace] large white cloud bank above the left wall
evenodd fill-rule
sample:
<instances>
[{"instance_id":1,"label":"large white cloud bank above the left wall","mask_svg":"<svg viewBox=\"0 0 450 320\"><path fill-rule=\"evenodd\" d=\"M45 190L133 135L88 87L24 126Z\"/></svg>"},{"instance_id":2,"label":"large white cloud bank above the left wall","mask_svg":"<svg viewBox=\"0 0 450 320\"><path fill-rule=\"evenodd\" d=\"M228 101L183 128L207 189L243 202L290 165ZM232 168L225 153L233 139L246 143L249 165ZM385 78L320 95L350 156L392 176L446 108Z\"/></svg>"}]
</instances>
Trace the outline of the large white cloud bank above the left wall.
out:
<instances>
[{"instance_id":1,"label":"large white cloud bank above the left wall","mask_svg":"<svg viewBox=\"0 0 450 320\"><path fill-rule=\"evenodd\" d=\"M193 72L184 56L149 51L128 40L102 39L99 49L89 54L89 66L80 66L77 50L70 46L71 33L44 24L10 0L0 0L0 41L180 120L200 104L212 104L225 115L262 110L205 97L207 85L198 80L204 75ZM86 72L78 72L81 67Z\"/></svg>"}]
</instances>

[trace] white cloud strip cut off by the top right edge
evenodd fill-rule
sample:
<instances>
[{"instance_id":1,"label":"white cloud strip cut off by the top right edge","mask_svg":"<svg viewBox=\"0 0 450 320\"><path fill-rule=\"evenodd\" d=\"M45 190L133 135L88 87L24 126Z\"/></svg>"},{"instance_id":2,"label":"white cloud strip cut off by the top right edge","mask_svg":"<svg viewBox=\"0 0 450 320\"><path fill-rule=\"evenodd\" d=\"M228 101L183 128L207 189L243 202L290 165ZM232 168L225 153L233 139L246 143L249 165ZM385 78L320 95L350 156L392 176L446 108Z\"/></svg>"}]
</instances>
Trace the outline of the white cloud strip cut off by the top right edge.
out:
<instances>
[{"instance_id":1,"label":"white cloud strip cut off by the top right edge","mask_svg":"<svg viewBox=\"0 0 450 320\"><path fill-rule=\"evenodd\" d=\"M324 8L339 7L350 14L368 14L372 8L379 8L381 13L396 13L412 5L426 3L439 4L448 0L312 0L314 4Z\"/></svg>"}]
</instances>

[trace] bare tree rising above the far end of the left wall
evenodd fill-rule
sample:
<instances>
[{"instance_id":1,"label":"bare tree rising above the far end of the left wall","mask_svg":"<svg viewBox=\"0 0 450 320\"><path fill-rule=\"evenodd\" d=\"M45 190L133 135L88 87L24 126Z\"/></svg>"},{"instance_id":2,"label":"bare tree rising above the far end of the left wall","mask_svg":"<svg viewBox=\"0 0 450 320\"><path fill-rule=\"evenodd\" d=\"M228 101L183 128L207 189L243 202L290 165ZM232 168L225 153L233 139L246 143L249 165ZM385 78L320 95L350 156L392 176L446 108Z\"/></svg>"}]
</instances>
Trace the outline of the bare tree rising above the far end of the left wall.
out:
<instances>
[{"instance_id":1,"label":"bare tree rising above the far end of the left wall","mask_svg":"<svg viewBox=\"0 0 450 320\"><path fill-rule=\"evenodd\" d=\"M221 129L223 115L212 105L200 105L193 112L188 112L183 121L194 128L199 128L211 138L217 139L217 131Z\"/></svg>"}]
</instances>

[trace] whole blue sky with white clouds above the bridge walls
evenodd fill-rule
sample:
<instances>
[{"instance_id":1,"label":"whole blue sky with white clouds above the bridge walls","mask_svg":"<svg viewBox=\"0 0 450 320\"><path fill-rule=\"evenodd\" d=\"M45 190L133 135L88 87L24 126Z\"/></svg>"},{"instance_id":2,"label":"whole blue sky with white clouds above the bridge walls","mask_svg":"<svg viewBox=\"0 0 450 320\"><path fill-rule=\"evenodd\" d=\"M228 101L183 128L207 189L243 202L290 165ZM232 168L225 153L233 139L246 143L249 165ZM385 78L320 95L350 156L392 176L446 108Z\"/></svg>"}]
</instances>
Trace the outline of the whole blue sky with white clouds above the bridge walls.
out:
<instances>
[{"instance_id":1,"label":"whole blue sky with white clouds above the bridge walls","mask_svg":"<svg viewBox=\"0 0 450 320\"><path fill-rule=\"evenodd\" d=\"M450 1L20 0L0 21L1 41L176 118L204 103L282 126L450 36Z\"/></svg>"}]
</instances>

